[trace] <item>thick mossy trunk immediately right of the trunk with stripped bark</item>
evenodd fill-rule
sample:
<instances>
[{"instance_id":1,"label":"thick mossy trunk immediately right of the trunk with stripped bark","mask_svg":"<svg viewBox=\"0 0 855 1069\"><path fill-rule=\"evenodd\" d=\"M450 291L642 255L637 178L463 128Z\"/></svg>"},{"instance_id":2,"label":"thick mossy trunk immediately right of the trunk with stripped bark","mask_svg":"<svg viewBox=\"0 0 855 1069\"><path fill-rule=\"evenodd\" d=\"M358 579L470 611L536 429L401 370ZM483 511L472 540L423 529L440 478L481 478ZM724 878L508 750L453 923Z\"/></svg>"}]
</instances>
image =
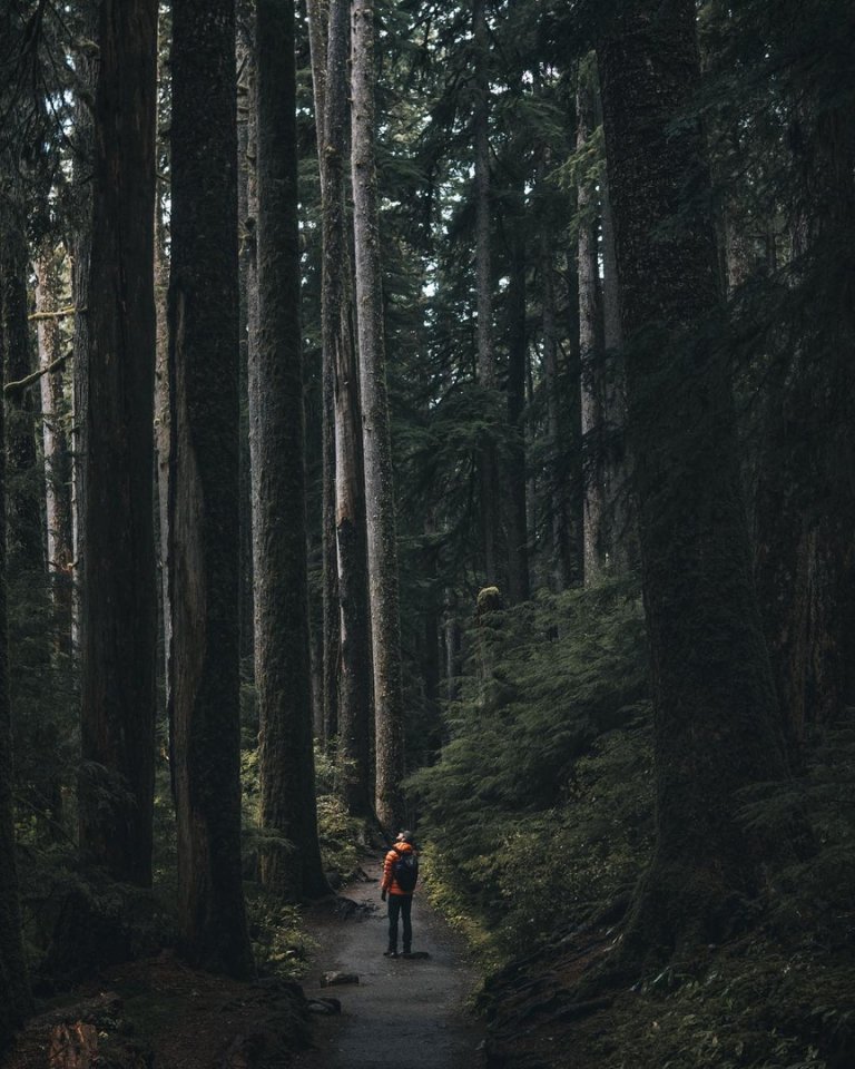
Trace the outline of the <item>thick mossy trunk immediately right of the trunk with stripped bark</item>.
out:
<instances>
[{"instance_id":1,"label":"thick mossy trunk immediately right of the trunk with stripped bark","mask_svg":"<svg viewBox=\"0 0 855 1069\"><path fill-rule=\"evenodd\" d=\"M257 0L258 301L253 414L255 678L262 880L288 901L330 893L315 804L299 327L294 0ZM284 518L286 518L284 520Z\"/></svg>"}]
</instances>

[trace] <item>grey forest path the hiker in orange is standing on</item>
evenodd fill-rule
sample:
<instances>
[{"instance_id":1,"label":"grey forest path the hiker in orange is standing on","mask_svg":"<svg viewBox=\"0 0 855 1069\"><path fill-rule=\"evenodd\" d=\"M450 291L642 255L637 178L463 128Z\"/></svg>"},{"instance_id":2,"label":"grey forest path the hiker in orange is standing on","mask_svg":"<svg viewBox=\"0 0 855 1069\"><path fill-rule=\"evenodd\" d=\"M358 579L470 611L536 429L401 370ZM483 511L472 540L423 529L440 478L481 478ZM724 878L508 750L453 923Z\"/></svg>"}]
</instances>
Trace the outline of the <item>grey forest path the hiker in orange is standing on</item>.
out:
<instances>
[{"instance_id":1,"label":"grey forest path the hiker in orange is standing on","mask_svg":"<svg viewBox=\"0 0 855 1069\"><path fill-rule=\"evenodd\" d=\"M413 952L430 958L389 959L386 908L380 900L381 859L365 864L367 880L341 895L356 903L348 915L308 911L318 949L303 988L308 999L337 999L342 1012L317 1018L316 1048L301 1069L475 1069L482 1026L466 1012L475 981L460 940L422 890L413 900ZM356 973L357 984L321 987L324 973Z\"/></svg>"}]
</instances>

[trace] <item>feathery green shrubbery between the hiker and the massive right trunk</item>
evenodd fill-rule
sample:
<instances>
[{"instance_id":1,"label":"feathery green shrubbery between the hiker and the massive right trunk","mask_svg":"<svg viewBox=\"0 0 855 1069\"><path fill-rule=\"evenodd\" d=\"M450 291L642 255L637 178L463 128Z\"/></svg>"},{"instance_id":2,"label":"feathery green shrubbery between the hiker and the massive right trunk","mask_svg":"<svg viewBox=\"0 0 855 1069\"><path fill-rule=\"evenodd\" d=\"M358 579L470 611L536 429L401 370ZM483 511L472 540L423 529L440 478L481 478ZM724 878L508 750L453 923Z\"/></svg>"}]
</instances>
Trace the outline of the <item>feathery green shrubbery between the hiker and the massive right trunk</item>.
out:
<instances>
[{"instance_id":1,"label":"feathery green shrubbery between the hiker and the massive right trunk","mask_svg":"<svg viewBox=\"0 0 855 1069\"><path fill-rule=\"evenodd\" d=\"M628 890L651 834L643 620L626 580L473 624L439 762L407 781L440 904L505 953Z\"/></svg>"}]
</instances>

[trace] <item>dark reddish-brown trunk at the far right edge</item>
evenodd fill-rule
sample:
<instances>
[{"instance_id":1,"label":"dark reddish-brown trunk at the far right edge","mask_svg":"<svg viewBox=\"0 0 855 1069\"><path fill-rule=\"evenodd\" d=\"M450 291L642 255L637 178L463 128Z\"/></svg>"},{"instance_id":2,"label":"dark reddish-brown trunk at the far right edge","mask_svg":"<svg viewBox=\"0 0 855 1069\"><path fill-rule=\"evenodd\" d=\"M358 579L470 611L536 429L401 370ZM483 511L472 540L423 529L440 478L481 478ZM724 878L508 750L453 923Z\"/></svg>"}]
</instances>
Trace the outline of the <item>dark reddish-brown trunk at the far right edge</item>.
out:
<instances>
[{"instance_id":1,"label":"dark reddish-brown trunk at the far right edge","mask_svg":"<svg viewBox=\"0 0 855 1069\"><path fill-rule=\"evenodd\" d=\"M758 587L796 759L812 726L855 704L855 105L823 88L817 99L805 86L794 104L795 312L784 330L796 340L766 386L757 503Z\"/></svg>"}]
</instances>

